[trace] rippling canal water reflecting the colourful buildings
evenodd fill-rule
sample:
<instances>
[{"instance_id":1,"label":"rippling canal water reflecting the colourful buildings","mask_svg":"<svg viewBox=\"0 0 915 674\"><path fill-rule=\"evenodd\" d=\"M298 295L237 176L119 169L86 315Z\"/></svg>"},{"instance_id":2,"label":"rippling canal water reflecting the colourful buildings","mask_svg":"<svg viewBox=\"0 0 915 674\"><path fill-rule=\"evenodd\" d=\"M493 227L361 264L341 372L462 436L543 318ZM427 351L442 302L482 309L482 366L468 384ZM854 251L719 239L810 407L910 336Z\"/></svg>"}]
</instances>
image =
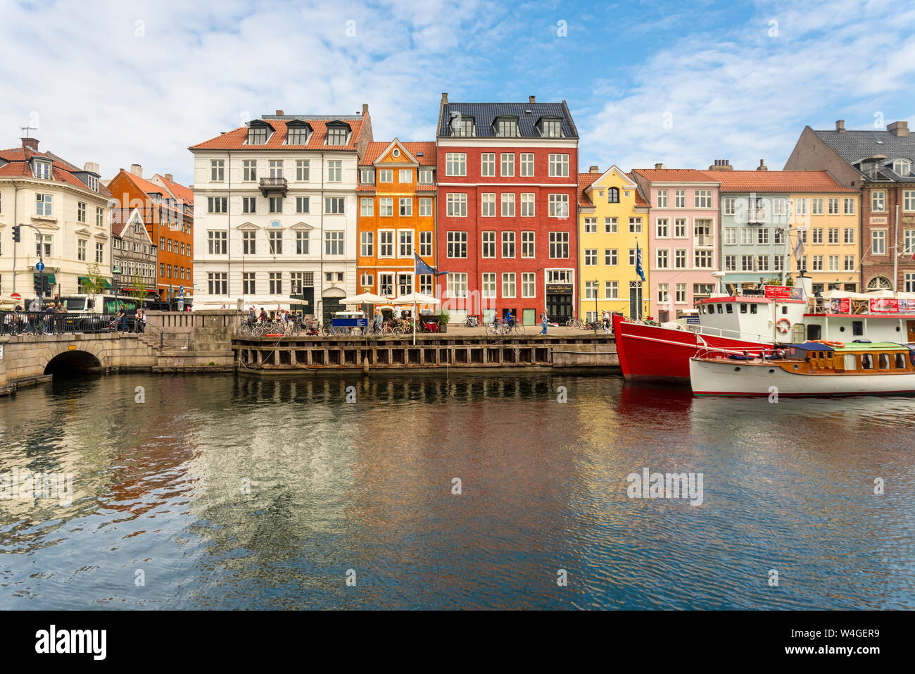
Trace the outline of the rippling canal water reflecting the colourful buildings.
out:
<instances>
[{"instance_id":1,"label":"rippling canal water reflecting the colourful buildings","mask_svg":"<svg viewBox=\"0 0 915 674\"><path fill-rule=\"evenodd\" d=\"M913 419L552 373L55 381L0 399L0 608L911 609ZM693 497L630 497L646 469Z\"/></svg>"}]
</instances>

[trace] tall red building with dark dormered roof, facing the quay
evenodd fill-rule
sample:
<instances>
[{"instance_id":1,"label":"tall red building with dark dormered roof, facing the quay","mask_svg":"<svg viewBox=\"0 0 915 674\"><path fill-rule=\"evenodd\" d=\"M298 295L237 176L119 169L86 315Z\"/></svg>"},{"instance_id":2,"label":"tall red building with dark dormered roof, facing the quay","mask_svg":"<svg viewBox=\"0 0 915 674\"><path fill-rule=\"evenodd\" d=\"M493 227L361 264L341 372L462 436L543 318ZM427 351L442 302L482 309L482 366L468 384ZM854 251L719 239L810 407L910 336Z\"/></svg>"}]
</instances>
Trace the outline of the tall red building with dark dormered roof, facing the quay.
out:
<instances>
[{"instance_id":1,"label":"tall red building with dark dormered roof, facing the quay","mask_svg":"<svg viewBox=\"0 0 915 674\"><path fill-rule=\"evenodd\" d=\"M452 321L577 308L578 132L565 101L449 103L436 131L438 266ZM440 277L444 279L445 277Z\"/></svg>"}]
</instances>

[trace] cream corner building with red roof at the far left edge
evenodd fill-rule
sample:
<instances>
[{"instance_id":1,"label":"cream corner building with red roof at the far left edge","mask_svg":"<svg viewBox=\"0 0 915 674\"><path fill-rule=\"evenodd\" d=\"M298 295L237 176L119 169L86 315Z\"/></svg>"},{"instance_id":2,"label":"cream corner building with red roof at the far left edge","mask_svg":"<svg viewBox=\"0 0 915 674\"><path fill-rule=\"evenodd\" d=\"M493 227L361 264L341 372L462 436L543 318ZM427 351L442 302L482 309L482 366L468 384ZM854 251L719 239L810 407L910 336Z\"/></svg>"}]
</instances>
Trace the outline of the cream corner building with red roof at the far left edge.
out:
<instances>
[{"instance_id":1,"label":"cream corner building with red roof at the far left edge","mask_svg":"<svg viewBox=\"0 0 915 674\"><path fill-rule=\"evenodd\" d=\"M80 292L81 279L93 264L110 279L110 197L98 164L78 168L40 151L36 138L0 150L2 292L34 297L39 259L45 265L43 299ZM30 226L20 229L20 242L14 243L13 226L19 224Z\"/></svg>"}]
</instances>

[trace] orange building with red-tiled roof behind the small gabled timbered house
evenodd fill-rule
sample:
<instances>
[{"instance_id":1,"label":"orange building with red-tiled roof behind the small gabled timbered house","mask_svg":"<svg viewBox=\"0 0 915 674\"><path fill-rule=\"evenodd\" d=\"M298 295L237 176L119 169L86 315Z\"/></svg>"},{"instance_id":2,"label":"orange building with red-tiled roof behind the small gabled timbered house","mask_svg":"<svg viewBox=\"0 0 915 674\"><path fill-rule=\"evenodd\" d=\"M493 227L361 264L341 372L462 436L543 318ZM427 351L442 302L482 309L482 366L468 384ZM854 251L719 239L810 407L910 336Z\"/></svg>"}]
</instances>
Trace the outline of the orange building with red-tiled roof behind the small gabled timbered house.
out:
<instances>
[{"instance_id":1,"label":"orange building with red-tiled roof behind the small gabled timbered house","mask_svg":"<svg viewBox=\"0 0 915 674\"><path fill-rule=\"evenodd\" d=\"M171 174L143 177L139 164L121 169L108 183L121 208L139 209L146 231L156 245L156 294L162 301L178 301L194 294L193 242L194 193L172 179Z\"/></svg>"}]
</instances>

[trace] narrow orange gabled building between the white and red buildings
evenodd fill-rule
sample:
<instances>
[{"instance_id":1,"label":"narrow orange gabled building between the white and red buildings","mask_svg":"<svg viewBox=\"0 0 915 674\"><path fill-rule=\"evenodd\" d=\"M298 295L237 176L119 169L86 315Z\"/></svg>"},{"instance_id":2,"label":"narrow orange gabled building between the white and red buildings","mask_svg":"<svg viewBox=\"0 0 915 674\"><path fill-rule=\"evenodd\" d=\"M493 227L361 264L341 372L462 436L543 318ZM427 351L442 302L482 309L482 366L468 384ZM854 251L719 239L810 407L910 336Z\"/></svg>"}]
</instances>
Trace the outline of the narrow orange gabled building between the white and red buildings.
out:
<instances>
[{"instance_id":1,"label":"narrow orange gabled building between the white and red buildings","mask_svg":"<svg viewBox=\"0 0 915 674\"><path fill-rule=\"evenodd\" d=\"M436 266L436 144L370 143L359 169L359 292L396 299L436 292L414 278L414 253Z\"/></svg>"}]
</instances>

